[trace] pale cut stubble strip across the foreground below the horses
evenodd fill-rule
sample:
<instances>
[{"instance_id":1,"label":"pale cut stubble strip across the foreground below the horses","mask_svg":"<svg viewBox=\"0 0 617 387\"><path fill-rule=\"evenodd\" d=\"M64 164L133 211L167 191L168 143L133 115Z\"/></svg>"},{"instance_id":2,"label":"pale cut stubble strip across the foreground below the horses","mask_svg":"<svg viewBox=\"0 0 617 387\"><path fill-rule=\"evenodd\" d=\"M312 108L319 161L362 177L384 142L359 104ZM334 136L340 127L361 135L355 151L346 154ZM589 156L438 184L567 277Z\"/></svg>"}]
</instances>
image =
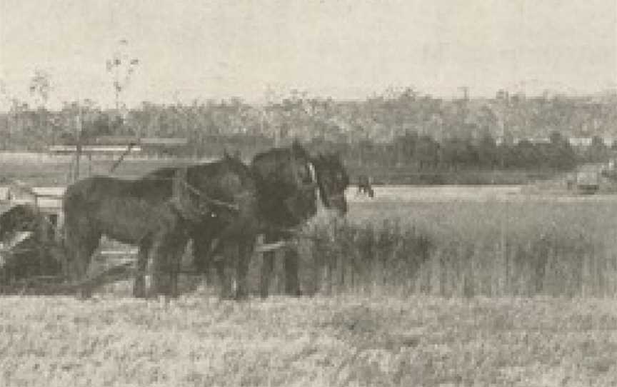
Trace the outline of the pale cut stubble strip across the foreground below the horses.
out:
<instances>
[{"instance_id":1,"label":"pale cut stubble strip across the foreground below the horses","mask_svg":"<svg viewBox=\"0 0 617 387\"><path fill-rule=\"evenodd\" d=\"M617 309L561 298L0 299L1 386L615 386Z\"/></svg>"}]
</instances>

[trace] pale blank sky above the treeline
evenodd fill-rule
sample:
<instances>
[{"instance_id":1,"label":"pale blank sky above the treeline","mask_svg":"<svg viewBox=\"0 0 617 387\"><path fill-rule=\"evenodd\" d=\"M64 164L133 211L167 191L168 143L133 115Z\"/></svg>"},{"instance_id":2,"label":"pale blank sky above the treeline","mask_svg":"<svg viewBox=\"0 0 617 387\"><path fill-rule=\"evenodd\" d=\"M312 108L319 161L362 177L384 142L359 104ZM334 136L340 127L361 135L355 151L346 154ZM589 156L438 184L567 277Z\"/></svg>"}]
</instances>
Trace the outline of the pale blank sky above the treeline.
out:
<instances>
[{"instance_id":1,"label":"pale blank sky above the treeline","mask_svg":"<svg viewBox=\"0 0 617 387\"><path fill-rule=\"evenodd\" d=\"M617 81L615 0L0 0L0 79L50 105L113 101L120 39L140 64L128 104L285 92L363 99L388 86L436 96L595 93ZM0 97L2 97L0 95Z\"/></svg>"}]
</instances>

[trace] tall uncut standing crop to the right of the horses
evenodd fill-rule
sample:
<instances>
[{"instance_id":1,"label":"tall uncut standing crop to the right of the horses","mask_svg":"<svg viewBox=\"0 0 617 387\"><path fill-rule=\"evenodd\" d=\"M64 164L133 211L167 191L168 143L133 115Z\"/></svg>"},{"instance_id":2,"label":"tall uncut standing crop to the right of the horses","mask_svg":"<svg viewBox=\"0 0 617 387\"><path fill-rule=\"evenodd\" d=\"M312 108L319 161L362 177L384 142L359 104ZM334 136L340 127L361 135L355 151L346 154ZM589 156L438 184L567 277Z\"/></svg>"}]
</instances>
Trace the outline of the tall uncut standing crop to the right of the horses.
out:
<instances>
[{"instance_id":1,"label":"tall uncut standing crop to the right of the horses","mask_svg":"<svg viewBox=\"0 0 617 387\"><path fill-rule=\"evenodd\" d=\"M299 245L308 293L617 295L611 202L375 207L307 228Z\"/></svg>"}]
</instances>

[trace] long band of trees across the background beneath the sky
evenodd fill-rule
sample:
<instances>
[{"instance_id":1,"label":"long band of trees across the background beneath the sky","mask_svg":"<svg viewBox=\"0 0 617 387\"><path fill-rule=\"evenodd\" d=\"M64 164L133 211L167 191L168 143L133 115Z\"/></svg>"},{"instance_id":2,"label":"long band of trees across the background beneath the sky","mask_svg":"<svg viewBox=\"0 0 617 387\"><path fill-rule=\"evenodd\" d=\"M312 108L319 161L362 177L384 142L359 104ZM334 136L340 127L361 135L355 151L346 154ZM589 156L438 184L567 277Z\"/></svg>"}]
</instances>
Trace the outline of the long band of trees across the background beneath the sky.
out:
<instances>
[{"instance_id":1,"label":"long band of trees across the background beneath the sky","mask_svg":"<svg viewBox=\"0 0 617 387\"><path fill-rule=\"evenodd\" d=\"M250 156L301 139L315 149L342 151L353 166L567 170L607 159L613 144L603 139L613 136L615 122L615 95L526 97L506 91L492 99L443 100L401 89L364 101L294 91L261 106L240 99L144 102L124 111L104 110L89 100L64 104L59 111L13 101L0 115L0 148L42 151L74 144L81 126L86 144L97 136L183 137L188 146L146 149L179 156L214 156L225 148ZM591 146L575 149L568 144L571 136L595 137Z\"/></svg>"}]
</instances>

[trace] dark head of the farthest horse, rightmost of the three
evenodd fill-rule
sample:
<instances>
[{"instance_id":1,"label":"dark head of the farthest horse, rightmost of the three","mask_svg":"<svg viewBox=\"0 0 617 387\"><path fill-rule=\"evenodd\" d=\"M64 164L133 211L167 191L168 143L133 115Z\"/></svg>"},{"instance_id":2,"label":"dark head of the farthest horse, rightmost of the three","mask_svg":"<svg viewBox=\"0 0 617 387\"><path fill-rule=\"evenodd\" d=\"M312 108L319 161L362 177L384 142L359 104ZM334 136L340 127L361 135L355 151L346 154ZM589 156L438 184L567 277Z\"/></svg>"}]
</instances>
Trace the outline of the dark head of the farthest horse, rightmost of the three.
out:
<instances>
[{"instance_id":1,"label":"dark head of the farthest horse, rightmost of the three","mask_svg":"<svg viewBox=\"0 0 617 387\"><path fill-rule=\"evenodd\" d=\"M319 154L313 158L315 176L321 202L326 208L333 208L339 213L347 213L345 190L349 185L349 176L339 154Z\"/></svg>"}]
</instances>

